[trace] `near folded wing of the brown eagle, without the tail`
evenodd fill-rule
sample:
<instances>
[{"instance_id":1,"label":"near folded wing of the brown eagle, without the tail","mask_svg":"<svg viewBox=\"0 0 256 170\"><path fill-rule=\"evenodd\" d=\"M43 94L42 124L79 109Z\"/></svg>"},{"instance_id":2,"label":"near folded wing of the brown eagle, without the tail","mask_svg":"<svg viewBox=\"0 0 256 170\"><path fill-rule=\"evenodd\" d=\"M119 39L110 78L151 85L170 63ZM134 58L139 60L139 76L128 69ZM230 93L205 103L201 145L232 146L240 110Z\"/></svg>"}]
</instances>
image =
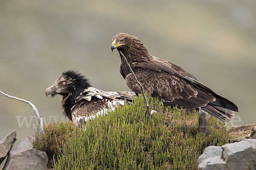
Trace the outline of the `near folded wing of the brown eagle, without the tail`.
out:
<instances>
[{"instance_id":1,"label":"near folded wing of the brown eagle, without the tail","mask_svg":"<svg viewBox=\"0 0 256 170\"><path fill-rule=\"evenodd\" d=\"M202 90L197 91L197 88L186 79L166 72L143 69L136 72L135 75L150 96L160 97L164 102L182 102L183 107L194 110L195 107L204 107L210 100L214 100L214 96ZM125 80L132 91L137 94L140 93L140 87L132 74L128 74Z\"/></svg>"}]
</instances>

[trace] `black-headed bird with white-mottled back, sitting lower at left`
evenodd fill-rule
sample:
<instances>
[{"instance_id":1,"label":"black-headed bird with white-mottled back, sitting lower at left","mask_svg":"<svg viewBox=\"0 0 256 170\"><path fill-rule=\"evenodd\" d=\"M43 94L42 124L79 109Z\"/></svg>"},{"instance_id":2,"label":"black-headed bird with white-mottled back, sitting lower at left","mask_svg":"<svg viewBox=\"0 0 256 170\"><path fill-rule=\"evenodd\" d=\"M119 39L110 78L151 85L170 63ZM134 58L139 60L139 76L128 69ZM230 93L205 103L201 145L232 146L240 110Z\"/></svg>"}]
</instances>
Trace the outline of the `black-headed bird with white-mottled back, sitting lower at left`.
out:
<instances>
[{"instance_id":1,"label":"black-headed bird with white-mottled back, sitting lower at left","mask_svg":"<svg viewBox=\"0 0 256 170\"><path fill-rule=\"evenodd\" d=\"M131 103L135 96L133 92L107 92L93 88L88 79L77 71L64 71L45 94L60 94L63 114L77 126L113 111L125 102Z\"/></svg>"}]
</instances>

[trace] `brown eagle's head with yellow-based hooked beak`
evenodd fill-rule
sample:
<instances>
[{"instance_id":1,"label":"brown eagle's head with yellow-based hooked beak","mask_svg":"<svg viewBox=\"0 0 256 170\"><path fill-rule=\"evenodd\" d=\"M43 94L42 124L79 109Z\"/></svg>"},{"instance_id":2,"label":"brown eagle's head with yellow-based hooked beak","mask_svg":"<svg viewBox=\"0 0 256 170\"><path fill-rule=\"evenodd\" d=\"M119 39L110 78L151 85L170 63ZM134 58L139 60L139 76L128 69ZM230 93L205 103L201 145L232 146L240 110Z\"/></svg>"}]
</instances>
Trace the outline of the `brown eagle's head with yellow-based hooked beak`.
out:
<instances>
[{"instance_id":1,"label":"brown eagle's head with yellow-based hooked beak","mask_svg":"<svg viewBox=\"0 0 256 170\"><path fill-rule=\"evenodd\" d=\"M127 51L131 48L133 43L137 41L140 40L132 35L125 33L116 34L112 38L111 50L113 51L116 48L118 51Z\"/></svg>"}]
</instances>

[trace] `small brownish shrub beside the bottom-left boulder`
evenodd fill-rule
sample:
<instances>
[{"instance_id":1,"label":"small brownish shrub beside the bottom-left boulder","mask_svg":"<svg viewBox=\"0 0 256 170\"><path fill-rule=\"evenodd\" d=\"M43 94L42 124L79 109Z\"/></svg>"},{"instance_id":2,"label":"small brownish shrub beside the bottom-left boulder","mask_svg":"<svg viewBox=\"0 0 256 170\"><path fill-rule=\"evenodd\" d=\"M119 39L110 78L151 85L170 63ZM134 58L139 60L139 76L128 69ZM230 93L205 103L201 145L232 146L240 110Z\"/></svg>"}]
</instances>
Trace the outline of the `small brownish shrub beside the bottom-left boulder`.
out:
<instances>
[{"instance_id":1,"label":"small brownish shrub beside the bottom-left boulder","mask_svg":"<svg viewBox=\"0 0 256 170\"><path fill-rule=\"evenodd\" d=\"M44 125L45 134L35 137L33 148L46 152L49 162L48 166L53 165L53 155L57 157L58 147L62 146L62 142L66 139L66 134L72 134L74 130L73 122L55 122L53 124Z\"/></svg>"}]
</instances>

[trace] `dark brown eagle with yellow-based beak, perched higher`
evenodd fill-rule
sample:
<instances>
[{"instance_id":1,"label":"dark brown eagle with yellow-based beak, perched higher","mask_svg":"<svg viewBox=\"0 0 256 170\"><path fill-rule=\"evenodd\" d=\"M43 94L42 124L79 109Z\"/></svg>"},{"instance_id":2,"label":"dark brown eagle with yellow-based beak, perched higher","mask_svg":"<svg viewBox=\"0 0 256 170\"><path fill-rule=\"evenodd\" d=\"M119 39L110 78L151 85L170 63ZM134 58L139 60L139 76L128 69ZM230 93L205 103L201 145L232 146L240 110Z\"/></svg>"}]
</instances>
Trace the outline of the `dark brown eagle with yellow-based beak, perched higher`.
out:
<instances>
[{"instance_id":1,"label":"dark brown eagle with yellow-based beak, perched higher","mask_svg":"<svg viewBox=\"0 0 256 170\"><path fill-rule=\"evenodd\" d=\"M137 79L149 96L159 97L165 105L183 106L189 110L199 107L223 122L229 122L238 112L237 106L219 96L210 88L178 65L149 54L143 43L136 37L119 33L112 39L111 50L121 51L127 58ZM120 73L128 87L140 94L140 86L130 73L128 65L120 54Z\"/></svg>"}]
</instances>

